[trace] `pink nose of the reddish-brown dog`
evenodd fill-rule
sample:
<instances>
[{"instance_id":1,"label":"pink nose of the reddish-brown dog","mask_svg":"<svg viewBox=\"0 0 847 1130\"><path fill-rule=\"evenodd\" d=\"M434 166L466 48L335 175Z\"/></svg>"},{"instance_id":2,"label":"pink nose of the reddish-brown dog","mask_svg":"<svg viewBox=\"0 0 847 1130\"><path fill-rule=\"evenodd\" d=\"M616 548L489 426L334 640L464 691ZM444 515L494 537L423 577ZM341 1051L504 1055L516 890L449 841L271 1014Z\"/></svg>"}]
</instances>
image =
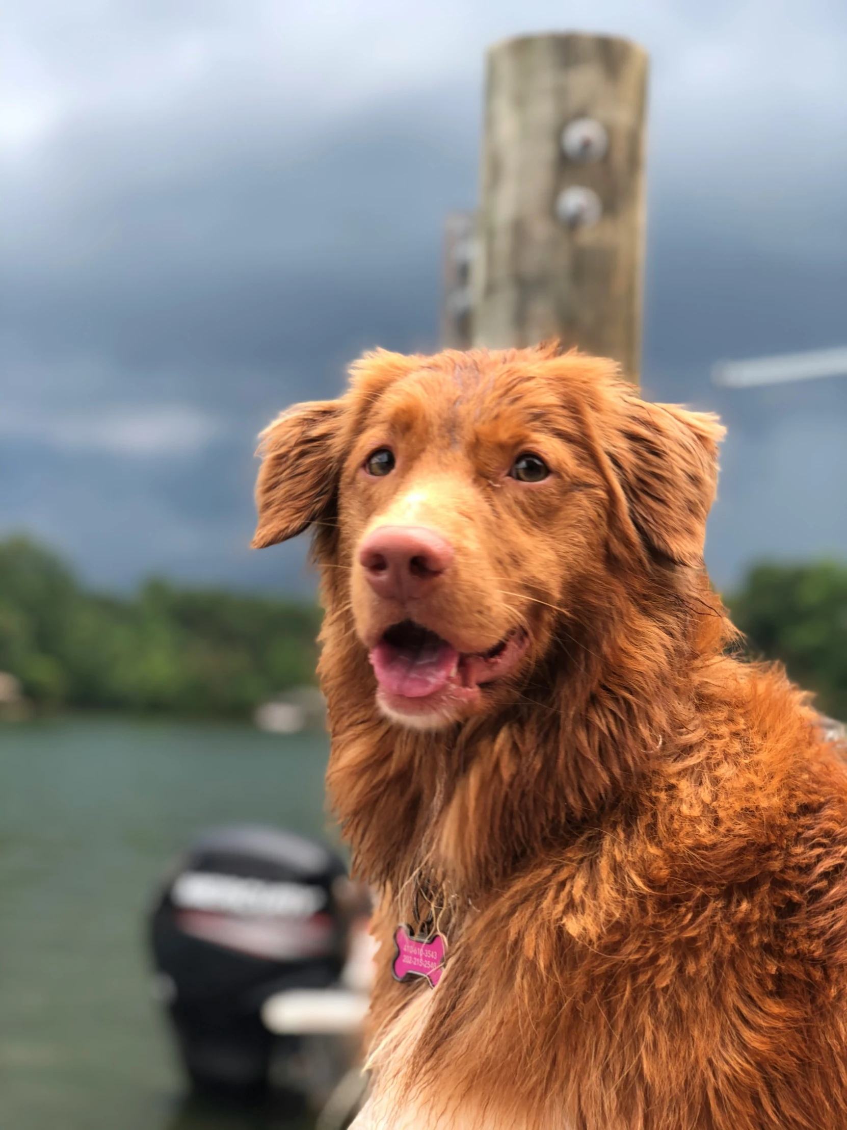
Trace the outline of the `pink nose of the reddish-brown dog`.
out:
<instances>
[{"instance_id":1,"label":"pink nose of the reddish-brown dog","mask_svg":"<svg viewBox=\"0 0 847 1130\"><path fill-rule=\"evenodd\" d=\"M359 547L359 563L379 597L421 597L449 568L453 546L425 525L381 525Z\"/></svg>"}]
</instances>

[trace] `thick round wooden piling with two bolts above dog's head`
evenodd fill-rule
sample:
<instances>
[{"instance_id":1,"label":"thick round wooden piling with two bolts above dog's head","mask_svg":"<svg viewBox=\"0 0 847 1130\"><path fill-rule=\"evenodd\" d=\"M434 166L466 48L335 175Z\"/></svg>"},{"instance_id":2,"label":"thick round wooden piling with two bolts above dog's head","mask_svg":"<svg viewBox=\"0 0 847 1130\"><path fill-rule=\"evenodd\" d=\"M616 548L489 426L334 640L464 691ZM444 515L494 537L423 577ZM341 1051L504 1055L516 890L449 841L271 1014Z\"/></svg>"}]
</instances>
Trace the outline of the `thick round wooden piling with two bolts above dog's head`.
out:
<instances>
[{"instance_id":1,"label":"thick round wooden piling with two bolts above dog's head","mask_svg":"<svg viewBox=\"0 0 847 1130\"><path fill-rule=\"evenodd\" d=\"M559 338L637 381L647 68L641 47L610 36L489 51L474 345Z\"/></svg>"}]
</instances>

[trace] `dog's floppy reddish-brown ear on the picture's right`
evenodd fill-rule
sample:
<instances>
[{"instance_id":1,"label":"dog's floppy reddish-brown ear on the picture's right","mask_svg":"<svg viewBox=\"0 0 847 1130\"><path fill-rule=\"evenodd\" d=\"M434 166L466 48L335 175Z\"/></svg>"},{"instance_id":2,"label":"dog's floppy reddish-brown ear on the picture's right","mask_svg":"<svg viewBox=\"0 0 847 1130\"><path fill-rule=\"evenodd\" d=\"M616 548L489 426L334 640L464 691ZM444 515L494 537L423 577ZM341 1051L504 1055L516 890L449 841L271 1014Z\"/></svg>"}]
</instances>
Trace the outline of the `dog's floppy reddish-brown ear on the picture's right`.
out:
<instances>
[{"instance_id":1,"label":"dog's floppy reddish-brown ear on the picture's right","mask_svg":"<svg viewBox=\"0 0 847 1130\"><path fill-rule=\"evenodd\" d=\"M626 399L614 462L629 513L648 546L679 565L702 564L724 433L713 412Z\"/></svg>"}]
</instances>

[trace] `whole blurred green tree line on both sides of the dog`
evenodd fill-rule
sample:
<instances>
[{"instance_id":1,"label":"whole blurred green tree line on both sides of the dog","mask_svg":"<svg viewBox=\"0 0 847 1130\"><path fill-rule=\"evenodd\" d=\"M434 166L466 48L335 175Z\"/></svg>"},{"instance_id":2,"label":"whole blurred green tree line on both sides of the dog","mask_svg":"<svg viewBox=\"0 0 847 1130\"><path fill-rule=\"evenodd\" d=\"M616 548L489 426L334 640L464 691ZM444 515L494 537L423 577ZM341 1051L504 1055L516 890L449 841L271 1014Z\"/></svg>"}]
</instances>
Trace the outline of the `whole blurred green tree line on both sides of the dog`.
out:
<instances>
[{"instance_id":1,"label":"whole blurred green tree line on both sides of the dog","mask_svg":"<svg viewBox=\"0 0 847 1130\"><path fill-rule=\"evenodd\" d=\"M752 657L781 660L847 719L847 566L757 565L725 599ZM50 550L0 541L0 670L36 705L246 715L314 683L320 618L313 603L165 581L98 594Z\"/></svg>"}]
</instances>

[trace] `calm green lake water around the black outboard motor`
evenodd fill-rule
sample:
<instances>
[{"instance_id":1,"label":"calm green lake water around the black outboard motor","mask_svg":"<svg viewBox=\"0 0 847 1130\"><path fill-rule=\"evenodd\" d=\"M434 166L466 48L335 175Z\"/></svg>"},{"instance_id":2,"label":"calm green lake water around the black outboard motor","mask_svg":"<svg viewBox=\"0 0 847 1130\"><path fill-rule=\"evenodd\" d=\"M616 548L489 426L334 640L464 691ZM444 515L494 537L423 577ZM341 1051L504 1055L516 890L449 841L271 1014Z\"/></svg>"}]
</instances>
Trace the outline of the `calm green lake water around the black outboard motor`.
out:
<instances>
[{"instance_id":1,"label":"calm green lake water around the black outboard motor","mask_svg":"<svg viewBox=\"0 0 847 1130\"><path fill-rule=\"evenodd\" d=\"M323 734L67 719L0 727L0 1130L263 1130L197 1105L149 993L145 922L199 829L321 835Z\"/></svg>"}]
</instances>

